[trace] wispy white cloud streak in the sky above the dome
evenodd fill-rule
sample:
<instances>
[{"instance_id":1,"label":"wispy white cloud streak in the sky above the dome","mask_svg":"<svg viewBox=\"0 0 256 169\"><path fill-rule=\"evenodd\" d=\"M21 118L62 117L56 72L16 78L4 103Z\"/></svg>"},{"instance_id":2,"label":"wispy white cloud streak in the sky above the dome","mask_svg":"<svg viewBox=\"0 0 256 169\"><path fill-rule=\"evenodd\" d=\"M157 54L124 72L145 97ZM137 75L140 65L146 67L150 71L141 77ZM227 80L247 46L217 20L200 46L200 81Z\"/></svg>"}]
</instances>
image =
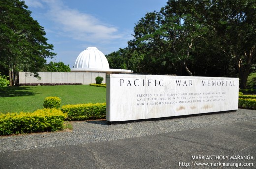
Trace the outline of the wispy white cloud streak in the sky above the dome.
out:
<instances>
[{"instance_id":1,"label":"wispy white cloud streak in the sky above the dome","mask_svg":"<svg viewBox=\"0 0 256 169\"><path fill-rule=\"evenodd\" d=\"M96 17L64 6L61 0L42 0L49 10L47 17L56 25L58 34L87 42L104 42L122 38L118 28Z\"/></svg>"}]
</instances>

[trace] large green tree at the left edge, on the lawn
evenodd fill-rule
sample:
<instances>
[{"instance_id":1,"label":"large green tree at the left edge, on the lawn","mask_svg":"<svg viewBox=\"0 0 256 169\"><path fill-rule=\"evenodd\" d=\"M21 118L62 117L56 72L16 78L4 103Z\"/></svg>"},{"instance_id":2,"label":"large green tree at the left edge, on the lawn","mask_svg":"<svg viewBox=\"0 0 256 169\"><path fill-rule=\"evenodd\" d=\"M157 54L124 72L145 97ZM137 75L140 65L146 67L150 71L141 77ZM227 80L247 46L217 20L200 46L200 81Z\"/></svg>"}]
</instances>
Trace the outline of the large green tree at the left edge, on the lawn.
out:
<instances>
[{"instance_id":1,"label":"large green tree at the left edge, on the lawn","mask_svg":"<svg viewBox=\"0 0 256 169\"><path fill-rule=\"evenodd\" d=\"M34 72L46 64L55 53L47 43L45 31L27 10L24 1L0 1L0 66L8 72L10 86L15 85L19 71Z\"/></svg>"}]
</instances>

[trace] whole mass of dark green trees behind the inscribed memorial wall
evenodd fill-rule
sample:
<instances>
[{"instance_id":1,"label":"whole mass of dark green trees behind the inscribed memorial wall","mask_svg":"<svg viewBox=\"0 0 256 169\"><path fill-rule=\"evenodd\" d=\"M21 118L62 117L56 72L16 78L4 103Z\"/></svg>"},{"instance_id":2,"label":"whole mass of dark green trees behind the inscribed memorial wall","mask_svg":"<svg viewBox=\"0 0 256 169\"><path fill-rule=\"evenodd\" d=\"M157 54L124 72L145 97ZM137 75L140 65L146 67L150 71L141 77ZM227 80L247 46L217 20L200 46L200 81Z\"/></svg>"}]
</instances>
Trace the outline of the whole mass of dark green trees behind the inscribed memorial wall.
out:
<instances>
[{"instance_id":1,"label":"whole mass of dark green trees behind the inscribed memorial wall","mask_svg":"<svg viewBox=\"0 0 256 169\"><path fill-rule=\"evenodd\" d=\"M246 88L256 62L255 0L168 0L134 27L128 46L107 55L112 68L195 76L239 74Z\"/></svg>"}]
</instances>

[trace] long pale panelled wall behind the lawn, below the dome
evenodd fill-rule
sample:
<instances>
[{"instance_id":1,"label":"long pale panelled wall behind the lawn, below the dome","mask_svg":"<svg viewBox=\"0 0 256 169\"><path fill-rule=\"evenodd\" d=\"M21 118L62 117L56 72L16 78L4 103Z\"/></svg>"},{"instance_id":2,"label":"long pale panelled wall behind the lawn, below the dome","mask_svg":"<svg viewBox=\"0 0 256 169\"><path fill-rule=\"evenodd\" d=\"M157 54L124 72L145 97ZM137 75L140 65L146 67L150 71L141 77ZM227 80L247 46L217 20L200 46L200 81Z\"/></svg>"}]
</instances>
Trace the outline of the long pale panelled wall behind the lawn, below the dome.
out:
<instances>
[{"instance_id":1,"label":"long pale panelled wall behind the lawn, below the dome","mask_svg":"<svg viewBox=\"0 0 256 169\"><path fill-rule=\"evenodd\" d=\"M30 72L19 72L19 83L82 83L88 85L96 83L97 76L103 77L102 83L106 83L106 73L98 72L38 72L41 80L35 78Z\"/></svg>"}]
</instances>

